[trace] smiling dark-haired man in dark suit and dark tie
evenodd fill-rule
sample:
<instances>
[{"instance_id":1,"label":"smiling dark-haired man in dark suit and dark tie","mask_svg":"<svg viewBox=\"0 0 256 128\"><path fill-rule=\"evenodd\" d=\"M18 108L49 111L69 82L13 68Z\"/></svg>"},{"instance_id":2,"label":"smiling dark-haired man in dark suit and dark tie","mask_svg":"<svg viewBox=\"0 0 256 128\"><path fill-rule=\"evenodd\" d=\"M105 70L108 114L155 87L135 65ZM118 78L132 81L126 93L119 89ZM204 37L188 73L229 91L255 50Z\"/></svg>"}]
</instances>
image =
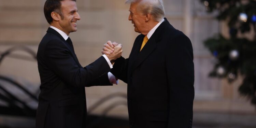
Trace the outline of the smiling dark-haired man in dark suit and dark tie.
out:
<instances>
[{"instance_id":1,"label":"smiling dark-haired man in dark suit and dark tie","mask_svg":"<svg viewBox=\"0 0 256 128\"><path fill-rule=\"evenodd\" d=\"M85 128L85 86L116 84L111 62L122 54L122 45L86 67L77 60L70 32L80 20L75 0L46 0L44 14L51 25L38 47L41 79L36 128Z\"/></svg>"}]
</instances>

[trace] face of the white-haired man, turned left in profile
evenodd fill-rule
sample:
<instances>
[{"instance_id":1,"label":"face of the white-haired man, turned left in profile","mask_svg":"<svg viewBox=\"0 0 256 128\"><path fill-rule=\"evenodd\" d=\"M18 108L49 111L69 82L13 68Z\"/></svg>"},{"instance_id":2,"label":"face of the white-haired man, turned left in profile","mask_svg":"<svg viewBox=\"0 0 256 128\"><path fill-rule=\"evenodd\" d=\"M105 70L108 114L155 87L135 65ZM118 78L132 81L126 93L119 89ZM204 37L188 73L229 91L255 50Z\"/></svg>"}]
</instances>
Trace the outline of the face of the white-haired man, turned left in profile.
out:
<instances>
[{"instance_id":1,"label":"face of the white-haired man, turned left in profile","mask_svg":"<svg viewBox=\"0 0 256 128\"><path fill-rule=\"evenodd\" d=\"M146 30L146 15L143 15L140 11L137 10L139 2L131 3L130 5L130 15L129 20L131 20L131 23L134 24L134 31L139 33L148 33Z\"/></svg>"}]
</instances>

